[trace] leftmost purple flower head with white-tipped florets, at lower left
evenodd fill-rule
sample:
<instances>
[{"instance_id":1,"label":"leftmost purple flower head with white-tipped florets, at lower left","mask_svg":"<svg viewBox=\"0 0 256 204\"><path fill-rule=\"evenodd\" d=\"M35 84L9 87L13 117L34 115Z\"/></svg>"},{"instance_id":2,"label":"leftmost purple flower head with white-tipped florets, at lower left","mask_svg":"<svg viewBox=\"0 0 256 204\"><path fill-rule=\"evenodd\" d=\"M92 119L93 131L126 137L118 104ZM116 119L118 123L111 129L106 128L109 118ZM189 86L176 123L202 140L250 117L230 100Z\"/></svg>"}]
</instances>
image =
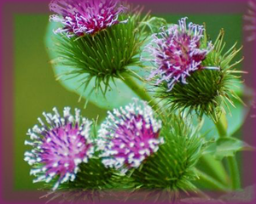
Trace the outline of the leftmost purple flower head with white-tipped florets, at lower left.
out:
<instances>
[{"instance_id":1,"label":"leftmost purple flower head with white-tipped florets, at lower left","mask_svg":"<svg viewBox=\"0 0 256 204\"><path fill-rule=\"evenodd\" d=\"M41 127L36 125L28 130L32 141L25 141L25 144L32 145L32 150L26 151L25 161L33 167L31 175L38 177L34 183L49 183L58 178L53 188L56 190L59 184L75 179L79 164L88 162L94 147L90 140L91 122L81 118L78 109L73 116L69 107L64 108L64 117L56 108L53 111L54 115L43 113L48 126L38 118Z\"/></svg>"}]
</instances>

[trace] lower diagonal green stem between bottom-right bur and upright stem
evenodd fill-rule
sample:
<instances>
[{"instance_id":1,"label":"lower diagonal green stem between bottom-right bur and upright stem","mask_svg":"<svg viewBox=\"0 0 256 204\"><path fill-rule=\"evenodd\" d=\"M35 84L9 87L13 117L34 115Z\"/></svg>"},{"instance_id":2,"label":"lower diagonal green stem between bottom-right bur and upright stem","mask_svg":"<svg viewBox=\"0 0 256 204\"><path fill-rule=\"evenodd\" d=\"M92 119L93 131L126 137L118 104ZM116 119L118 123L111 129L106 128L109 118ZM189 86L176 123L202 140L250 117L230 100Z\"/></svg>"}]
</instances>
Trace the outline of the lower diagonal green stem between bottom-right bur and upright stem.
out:
<instances>
[{"instance_id":1,"label":"lower diagonal green stem between bottom-right bur and upright stem","mask_svg":"<svg viewBox=\"0 0 256 204\"><path fill-rule=\"evenodd\" d=\"M214 178L210 177L206 173L203 173L196 168L195 168L195 173L199 176L199 178L201 179L201 181L204 184L207 184L207 187L212 187L214 190L228 192L228 190L227 190L226 186L224 186L224 184L221 184L220 182L218 182Z\"/></svg>"}]
</instances>

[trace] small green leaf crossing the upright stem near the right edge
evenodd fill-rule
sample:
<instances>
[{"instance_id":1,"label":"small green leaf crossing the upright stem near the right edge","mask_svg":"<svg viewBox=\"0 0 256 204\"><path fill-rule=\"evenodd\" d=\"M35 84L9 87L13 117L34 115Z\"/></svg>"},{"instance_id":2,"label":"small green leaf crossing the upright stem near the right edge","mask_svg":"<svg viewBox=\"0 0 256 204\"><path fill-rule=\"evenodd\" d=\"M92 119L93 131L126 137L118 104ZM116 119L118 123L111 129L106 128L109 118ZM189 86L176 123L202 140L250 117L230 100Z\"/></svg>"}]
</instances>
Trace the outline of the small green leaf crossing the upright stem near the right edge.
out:
<instances>
[{"instance_id":1,"label":"small green leaf crossing the upright stem near the right edge","mask_svg":"<svg viewBox=\"0 0 256 204\"><path fill-rule=\"evenodd\" d=\"M252 146L235 138L220 138L210 144L203 154L212 154L216 159L222 160L226 156L235 156L237 151L254 150Z\"/></svg>"}]
</instances>

